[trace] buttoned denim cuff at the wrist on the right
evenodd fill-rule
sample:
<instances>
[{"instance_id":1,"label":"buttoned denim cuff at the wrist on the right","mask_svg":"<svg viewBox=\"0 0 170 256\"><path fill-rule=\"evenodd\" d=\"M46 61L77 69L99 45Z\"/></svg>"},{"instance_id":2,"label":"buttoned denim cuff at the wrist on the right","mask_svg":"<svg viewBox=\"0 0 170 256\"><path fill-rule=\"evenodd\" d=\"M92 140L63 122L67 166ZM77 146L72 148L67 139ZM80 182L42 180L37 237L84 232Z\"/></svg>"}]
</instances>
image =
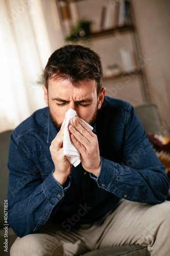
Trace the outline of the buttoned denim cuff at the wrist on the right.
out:
<instances>
[{"instance_id":1,"label":"buttoned denim cuff at the wrist on the right","mask_svg":"<svg viewBox=\"0 0 170 256\"><path fill-rule=\"evenodd\" d=\"M98 186L112 192L117 177L117 166L114 162L101 157L101 168L98 177L90 173L90 177L98 183Z\"/></svg>"}]
</instances>

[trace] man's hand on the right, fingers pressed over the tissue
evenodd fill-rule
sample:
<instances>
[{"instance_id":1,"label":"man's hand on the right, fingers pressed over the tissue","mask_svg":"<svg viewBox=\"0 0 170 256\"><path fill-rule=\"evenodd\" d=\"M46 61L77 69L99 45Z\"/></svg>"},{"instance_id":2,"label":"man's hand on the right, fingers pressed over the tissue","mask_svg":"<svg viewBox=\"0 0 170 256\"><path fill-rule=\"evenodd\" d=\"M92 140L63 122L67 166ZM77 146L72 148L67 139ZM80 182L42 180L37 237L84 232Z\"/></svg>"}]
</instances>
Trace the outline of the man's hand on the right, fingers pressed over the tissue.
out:
<instances>
[{"instance_id":1,"label":"man's hand on the right, fingers pressed over the tissue","mask_svg":"<svg viewBox=\"0 0 170 256\"><path fill-rule=\"evenodd\" d=\"M78 116L72 119L68 126L70 138L81 155L82 166L87 172L98 177L100 172L100 152L98 137L85 125Z\"/></svg>"}]
</instances>

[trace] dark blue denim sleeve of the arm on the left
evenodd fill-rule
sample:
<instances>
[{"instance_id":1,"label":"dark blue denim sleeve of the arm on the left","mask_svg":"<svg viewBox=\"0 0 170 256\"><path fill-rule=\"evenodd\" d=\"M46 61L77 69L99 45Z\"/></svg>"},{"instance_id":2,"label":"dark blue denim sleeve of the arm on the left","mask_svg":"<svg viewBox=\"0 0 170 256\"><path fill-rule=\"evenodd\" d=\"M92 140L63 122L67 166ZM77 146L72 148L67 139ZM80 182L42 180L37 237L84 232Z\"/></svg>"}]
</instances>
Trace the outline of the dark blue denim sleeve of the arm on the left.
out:
<instances>
[{"instance_id":1,"label":"dark blue denim sleeve of the arm on the left","mask_svg":"<svg viewBox=\"0 0 170 256\"><path fill-rule=\"evenodd\" d=\"M68 187L50 175L42 181L36 164L12 134L9 148L8 222L18 237L37 232L60 206Z\"/></svg>"}]
</instances>

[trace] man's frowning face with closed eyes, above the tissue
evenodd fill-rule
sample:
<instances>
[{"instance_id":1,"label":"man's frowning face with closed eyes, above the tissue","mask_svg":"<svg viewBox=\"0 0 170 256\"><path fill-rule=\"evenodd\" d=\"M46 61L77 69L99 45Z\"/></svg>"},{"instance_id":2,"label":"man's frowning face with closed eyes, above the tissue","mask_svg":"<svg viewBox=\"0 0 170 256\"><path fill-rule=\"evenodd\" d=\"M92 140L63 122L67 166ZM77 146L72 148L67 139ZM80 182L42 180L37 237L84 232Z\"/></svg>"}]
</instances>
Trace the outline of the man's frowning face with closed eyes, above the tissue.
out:
<instances>
[{"instance_id":1,"label":"man's frowning face with closed eyes, above the tissue","mask_svg":"<svg viewBox=\"0 0 170 256\"><path fill-rule=\"evenodd\" d=\"M48 82L48 92L45 86L43 90L51 119L58 131L69 109L74 109L80 118L93 125L105 95L103 88L97 96L94 81L80 81L79 85L74 87L69 80L51 79Z\"/></svg>"}]
</instances>

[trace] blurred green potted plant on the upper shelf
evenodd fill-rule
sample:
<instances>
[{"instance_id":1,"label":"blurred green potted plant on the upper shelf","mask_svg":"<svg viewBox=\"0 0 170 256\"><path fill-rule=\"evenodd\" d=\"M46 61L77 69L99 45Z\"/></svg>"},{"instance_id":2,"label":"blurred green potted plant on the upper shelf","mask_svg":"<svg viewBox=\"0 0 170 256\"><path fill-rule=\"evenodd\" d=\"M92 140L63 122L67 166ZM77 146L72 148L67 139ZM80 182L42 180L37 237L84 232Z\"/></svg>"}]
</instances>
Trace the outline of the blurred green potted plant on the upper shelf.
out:
<instances>
[{"instance_id":1,"label":"blurred green potted plant on the upper shelf","mask_svg":"<svg viewBox=\"0 0 170 256\"><path fill-rule=\"evenodd\" d=\"M90 35L90 25L89 20L78 20L77 23L71 27L69 35L66 37L66 41L77 41L85 40Z\"/></svg>"}]
</instances>

